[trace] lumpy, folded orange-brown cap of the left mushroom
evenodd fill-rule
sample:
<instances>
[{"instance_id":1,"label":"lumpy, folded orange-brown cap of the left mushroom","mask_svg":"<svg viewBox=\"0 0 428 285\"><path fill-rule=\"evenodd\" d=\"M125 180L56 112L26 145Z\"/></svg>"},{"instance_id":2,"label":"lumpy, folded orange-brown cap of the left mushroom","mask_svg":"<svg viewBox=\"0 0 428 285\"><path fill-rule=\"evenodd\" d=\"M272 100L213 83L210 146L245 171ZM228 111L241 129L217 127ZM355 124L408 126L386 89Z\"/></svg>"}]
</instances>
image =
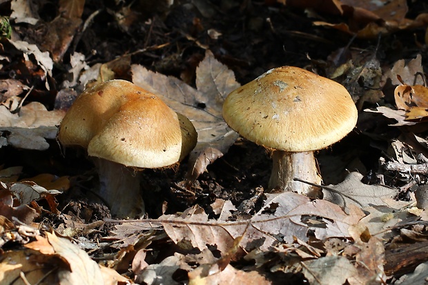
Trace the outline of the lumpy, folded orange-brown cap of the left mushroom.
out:
<instances>
[{"instance_id":1,"label":"lumpy, folded orange-brown cap of the left mushroom","mask_svg":"<svg viewBox=\"0 0 428 285\"><path fill-rule=\"evenodd\" d=\"M124 80L97 83L72 104L59 128L64 146L137 168L170 166L195 147L186 117L152 93Z\"/></svg>"}]
</instances>

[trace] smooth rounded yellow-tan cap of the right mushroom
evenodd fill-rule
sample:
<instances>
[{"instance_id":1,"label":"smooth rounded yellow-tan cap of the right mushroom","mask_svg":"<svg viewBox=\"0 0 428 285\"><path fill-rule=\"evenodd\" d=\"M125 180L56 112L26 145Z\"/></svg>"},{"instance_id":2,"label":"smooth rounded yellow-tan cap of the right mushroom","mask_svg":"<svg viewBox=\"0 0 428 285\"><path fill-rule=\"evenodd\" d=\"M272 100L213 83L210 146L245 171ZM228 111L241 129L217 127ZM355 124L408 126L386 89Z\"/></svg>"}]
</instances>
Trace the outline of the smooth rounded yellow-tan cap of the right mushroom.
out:
<instances>
[{"instance_id":1,"label":"smooth rounded yellow-tan cap of the right mushroom","mask_svg":"<svg viewBox=\"0 0 428 285\"><path fill-rule=\"evenodd\" d=\"M223 104L226 123L242 137L289 152L320 150L356 126L346 88L302 68L273 68L233 90Z\"/></svg>"}]
</instances>

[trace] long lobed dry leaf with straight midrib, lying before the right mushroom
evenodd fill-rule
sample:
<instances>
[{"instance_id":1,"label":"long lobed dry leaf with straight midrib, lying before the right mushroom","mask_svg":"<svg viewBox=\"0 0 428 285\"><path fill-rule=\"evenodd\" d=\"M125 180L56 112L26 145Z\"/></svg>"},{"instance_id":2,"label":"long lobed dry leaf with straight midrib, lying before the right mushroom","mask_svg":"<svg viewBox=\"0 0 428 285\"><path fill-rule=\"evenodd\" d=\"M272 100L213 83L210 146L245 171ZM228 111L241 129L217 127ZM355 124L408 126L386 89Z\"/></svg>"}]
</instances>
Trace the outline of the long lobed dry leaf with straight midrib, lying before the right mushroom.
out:
<instances>
[{"instance_id":1,"label":"long lobed dry leaf with straight midrib, lying before the right mushroom","mask_svg":"<svg viewBox=\"0 0 428 285\"><path fill-rule=\"evenodd\" d=\"M246 250L268 250L280 240L293 242L295 237L307 242L309 231L320 240L348 237L349 226L358 224L362 217L364 213L357 208L351 208L347 215L338 205L323 200L312 202L308 197L286 192L269 195L266 205L246 221L208 220L204 210L195 206L179 217L163 215L155 222L161 223L177 244L200 250L216 245L222 253L227 253L240 237L240 246Z\"/></svg>"}]
</instances>

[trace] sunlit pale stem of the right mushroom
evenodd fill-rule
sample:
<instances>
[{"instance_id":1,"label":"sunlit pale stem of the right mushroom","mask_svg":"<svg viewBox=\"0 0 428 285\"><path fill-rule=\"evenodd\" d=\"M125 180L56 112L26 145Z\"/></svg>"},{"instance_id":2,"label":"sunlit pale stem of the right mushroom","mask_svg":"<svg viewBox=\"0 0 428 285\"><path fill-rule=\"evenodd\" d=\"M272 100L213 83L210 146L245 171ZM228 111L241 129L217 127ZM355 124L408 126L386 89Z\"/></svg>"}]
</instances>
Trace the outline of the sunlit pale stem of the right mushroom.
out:
<instances>
[{"instance_id":1,"label":"sunlit pale stem of the right mushroom","mask_svg":"<svg viewBox=\"0 0 428 285\"><path fill-rule=\"evenodd\" d=\"M320 197L320 188L294 181L294 177L297 177L314 184L321 183L313 151L290 153L275 150L272 159L273 168L269 179L269 190L293 191L309 197Z\"/></svg>"}]
</instances>

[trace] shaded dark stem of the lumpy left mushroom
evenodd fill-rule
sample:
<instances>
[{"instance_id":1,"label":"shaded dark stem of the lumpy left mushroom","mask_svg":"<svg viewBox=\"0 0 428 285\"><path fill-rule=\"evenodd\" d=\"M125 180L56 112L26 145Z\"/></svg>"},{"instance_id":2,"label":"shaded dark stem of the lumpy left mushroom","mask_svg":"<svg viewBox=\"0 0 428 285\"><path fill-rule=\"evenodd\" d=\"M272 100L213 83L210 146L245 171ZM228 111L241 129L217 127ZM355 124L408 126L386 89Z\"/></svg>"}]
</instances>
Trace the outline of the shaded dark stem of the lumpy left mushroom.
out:
<instances>
[{"instance_id":1,"label":"shaded dark stem of the lumpy left mushroom","mask_svg":"<svg viewBox=\"0 0 428 285\"><path fill-rule=\"evenodd\" d=\"M140 173L107 159L94 157L99 175L99 195L119 219L143 217L146 213L140 193Z\"/></svg>"}]
</instances>

